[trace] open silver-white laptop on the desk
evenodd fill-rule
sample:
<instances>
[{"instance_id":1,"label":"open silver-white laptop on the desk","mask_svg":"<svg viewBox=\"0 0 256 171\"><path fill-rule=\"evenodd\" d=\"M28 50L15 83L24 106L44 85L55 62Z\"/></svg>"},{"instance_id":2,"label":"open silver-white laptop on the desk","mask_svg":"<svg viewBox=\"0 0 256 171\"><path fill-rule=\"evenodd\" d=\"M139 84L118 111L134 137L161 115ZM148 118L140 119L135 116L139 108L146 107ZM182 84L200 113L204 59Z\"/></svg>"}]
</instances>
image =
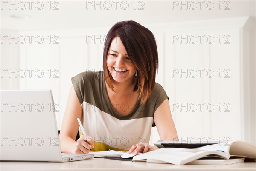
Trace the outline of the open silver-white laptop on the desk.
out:
<instances>
[{"instance_id":1,"label":"open silver-white laptop on the desk","mask_svg":"<svg viewBox=\"0 0 256 171\"><path fill-rule=\"evenodd\" d=\"M51 90L0 90L0 160L69 162L93 154L61 154Z\"/></svg>"}]
</instances>

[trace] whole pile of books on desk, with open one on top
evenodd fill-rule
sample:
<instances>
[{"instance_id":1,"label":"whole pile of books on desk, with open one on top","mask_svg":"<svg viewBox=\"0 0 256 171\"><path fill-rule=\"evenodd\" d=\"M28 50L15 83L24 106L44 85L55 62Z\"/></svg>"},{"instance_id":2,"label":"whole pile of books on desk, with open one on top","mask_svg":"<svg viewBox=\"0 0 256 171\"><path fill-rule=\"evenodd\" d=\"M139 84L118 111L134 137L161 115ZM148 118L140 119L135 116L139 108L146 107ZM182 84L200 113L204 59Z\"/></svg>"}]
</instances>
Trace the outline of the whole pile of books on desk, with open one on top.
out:
<instances>
[{"instance_id":1,"label":"whole pile of books on desk, with open one on top","mask_svg":"<svg viewBox=\"0 0 256 171\"><path fill-rule=\"evenodd\" d=\"M172 163L175 165L203 164L228 165L256 160L256 146L244 141L227 142L173 142L154 143L158 150L136 155L132 161Z\"/></svg>"}]
</instances>

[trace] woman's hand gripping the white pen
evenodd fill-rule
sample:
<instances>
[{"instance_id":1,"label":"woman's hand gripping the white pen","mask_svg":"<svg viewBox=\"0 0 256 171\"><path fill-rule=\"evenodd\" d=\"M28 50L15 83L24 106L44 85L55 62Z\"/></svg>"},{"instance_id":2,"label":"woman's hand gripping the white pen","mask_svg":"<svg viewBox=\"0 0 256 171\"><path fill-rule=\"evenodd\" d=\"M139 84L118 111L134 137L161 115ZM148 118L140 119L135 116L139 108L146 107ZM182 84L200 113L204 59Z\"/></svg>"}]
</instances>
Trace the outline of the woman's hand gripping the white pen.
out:
<instances>
[{"instance_id":1,"label":"woman's hand gripping the white pen","mask_svg":"<svg viewBox=\"0 0 256 171\"><path fill-rule=\"evenodd\" d=\"M80 138L76 140L75 153L88 154L92 148L94 148L93 137L81 135Z\"/></svg>"}]
</instances>

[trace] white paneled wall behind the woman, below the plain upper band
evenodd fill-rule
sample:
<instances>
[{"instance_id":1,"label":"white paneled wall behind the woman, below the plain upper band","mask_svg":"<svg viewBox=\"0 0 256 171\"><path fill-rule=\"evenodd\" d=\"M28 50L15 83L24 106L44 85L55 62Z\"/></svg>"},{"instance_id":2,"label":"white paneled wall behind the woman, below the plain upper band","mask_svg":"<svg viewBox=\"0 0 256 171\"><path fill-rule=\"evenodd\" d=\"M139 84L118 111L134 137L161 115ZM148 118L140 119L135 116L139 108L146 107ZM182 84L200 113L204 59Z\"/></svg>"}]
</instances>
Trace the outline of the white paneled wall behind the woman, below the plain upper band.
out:
<instances>
[{"instance_id":1,"label":"white paneled wall behind the woman, below the plain upper band","mask_svg":"<svg viewBox=\"0 0 256 171\"><path fill-rule=\"evenodd\" d=\"M204 140L223 140L227 137L230 140L255 143L255 121L251 120L255 118L255 98L250 94L255 92L255 72L251 72L253 67L255 71L255 65L248 62L255 56L250 52L253 48L245 47L252 44L248 43L251 29L255 29L251 25L253 23L249 17L239 17L146 26L157 40L159 71L156 82L163 86L169 96L180 140L192 137L197 140L201 137ZM102 70L103 37L108 30L109 28L86 28L19 32L20 35L43 35L45 41L42 44L4 45L6 48L4 52L1 51L1 68L15 66L8 64L8 56L12 56L8 49L12 48L19 54L20 68L44 71L41 78L17 78L17 88L52 89L55 103L59 106L56 116L60 129L71 86L70 78L82 71ZM58 35L58 44L49 43L48 35ZM195 42L191 35L195 35L198 40ZM203 36L202 42L198 35ZM210 36L206 40L207 35ZM188 36L188 42L186 39L181 42L180 39L175 40L176 36ZM213 43L209 43L211 37L214 37ZM243 61L247 61L247 64ZM187 75L184 73L186 70ZM207 70L209 71L206 72ZM210 71L214 71L211 78ZM180 75L180 72L183 74ZM244 87L252 90L246 93ZM1 81L1 89L14 88L12 82ZM150 143L157 140L157 129L153 128Z\"/></svg>"}]
</instances>

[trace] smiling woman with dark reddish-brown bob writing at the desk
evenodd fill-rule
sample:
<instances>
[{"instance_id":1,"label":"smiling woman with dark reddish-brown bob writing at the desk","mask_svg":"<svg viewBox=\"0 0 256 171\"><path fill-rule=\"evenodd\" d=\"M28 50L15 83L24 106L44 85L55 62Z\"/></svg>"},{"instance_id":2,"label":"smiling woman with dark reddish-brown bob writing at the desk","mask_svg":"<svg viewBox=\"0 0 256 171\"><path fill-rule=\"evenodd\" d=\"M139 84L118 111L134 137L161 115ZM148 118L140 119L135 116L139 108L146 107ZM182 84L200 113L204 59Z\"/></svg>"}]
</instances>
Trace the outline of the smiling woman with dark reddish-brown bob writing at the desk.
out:
<instances>
[{"instance_id":1,"label":"smiling woman with dark reddish-brown bob writing at the desk","mask_svg":"<svg viewBox=\"0 0 256 171\"><path fill-rule=\"evenodd\" d=\"M155 83L158 68L154 35L135 21L116 23L108 32L103 71L83 72L72 80L60 142L65 153L108 149L148 152L151 127L161 140L178 140L169 98ZM87 136L75 141L80 118Z\"/></svg>"}]
</instances>

